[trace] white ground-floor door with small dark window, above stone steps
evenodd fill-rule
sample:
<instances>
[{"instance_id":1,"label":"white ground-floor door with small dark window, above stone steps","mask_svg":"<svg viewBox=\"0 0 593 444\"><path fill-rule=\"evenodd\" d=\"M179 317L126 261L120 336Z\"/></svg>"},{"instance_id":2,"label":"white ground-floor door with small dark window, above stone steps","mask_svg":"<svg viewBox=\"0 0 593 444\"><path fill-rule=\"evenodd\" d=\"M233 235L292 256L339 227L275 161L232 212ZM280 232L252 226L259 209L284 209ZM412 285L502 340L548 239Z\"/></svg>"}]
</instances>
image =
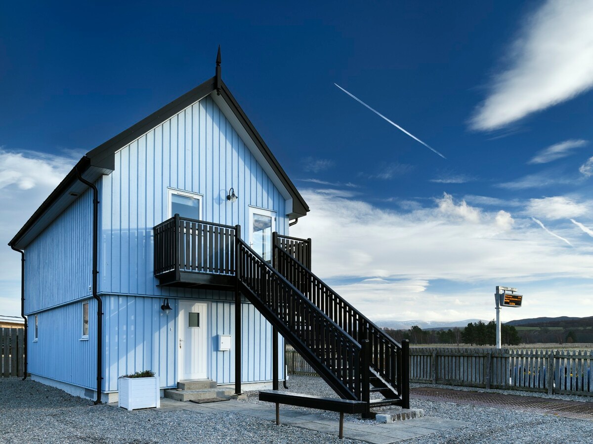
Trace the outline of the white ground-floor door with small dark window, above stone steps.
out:
<instances>
[{"instance_id":1,"label":"white ground-floor door with small dark window, above stone steps","mask_svg":"<svg viewBox=\"0 0 593 444\"><path fill-rule=\"evenodd\" d=\"M208 305L179 301L179 380L208 377Z\"/></svg>"}]
</instances>

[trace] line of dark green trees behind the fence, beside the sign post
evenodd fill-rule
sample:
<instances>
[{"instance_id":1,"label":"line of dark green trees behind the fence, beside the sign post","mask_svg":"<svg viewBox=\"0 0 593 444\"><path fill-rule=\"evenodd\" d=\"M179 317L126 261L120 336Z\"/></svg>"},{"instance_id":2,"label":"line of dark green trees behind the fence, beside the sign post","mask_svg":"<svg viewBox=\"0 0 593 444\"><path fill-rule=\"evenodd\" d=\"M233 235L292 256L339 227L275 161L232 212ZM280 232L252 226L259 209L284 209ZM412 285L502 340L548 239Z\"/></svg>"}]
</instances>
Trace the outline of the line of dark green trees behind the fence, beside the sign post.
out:
<instances>
[{"instance_id":1,"label":"line of dark green trees behind the fence, beside the sign post","mask_svg":"<svg viewBox=\"0 0 593 444\"><path fill-rule=\"evenodd\" d=\"M419 326L412 326L409 330L384 329L385 333L397 342L407 339L412 344L468 344L468 345L496 345L496 322L484 323L478 321L467 324L460 329L455 327L448 330L422 330ZM514 326L502 324L500 340L505 345L521 343L517 329Z\"/></svg>"}]
</instances>

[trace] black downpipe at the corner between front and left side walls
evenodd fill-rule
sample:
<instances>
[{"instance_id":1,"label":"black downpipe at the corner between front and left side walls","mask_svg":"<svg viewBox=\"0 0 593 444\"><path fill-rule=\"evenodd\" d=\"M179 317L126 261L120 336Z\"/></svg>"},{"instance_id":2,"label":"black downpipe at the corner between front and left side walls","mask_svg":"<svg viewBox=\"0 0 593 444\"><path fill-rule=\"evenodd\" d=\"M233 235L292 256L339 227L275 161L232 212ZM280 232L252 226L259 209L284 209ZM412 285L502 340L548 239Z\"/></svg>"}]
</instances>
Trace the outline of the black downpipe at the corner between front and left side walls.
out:
<instances>
[{"instance_id":1,"label":"black downpipe at the corner between front and left side walls","mask_svg":"<svg viewBox=\"0 0 593 444\"><path fill-rule=\"evenodd\" d=\"M97 400L95 404L101 403L101 382L103 381L103 301L97 295L97 275L99 274L97 268L98 255L98 220L99 220L99 192L97 187L82 178L78 169L76 169L76 177L83 184L93 189L93 297L97 300Z\"/></svg>"}]
</instances>

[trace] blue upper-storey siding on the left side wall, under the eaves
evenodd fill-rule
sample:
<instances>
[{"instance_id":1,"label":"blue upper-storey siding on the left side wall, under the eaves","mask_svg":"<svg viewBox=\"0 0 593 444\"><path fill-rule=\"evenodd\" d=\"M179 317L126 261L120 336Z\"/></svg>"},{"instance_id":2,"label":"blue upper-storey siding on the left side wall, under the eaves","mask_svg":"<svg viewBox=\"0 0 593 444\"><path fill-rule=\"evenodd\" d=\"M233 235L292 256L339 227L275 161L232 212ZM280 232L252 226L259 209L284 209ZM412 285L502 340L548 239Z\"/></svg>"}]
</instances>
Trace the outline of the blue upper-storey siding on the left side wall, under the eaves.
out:
<instances>
[{"instance_id":1,"label":"blue upper-storey siding on the left side wall, under the eaves","mask_svg":"<svg viewBox=\"0 0 593 444\"><path fill-rule=\"evenodd\" d=\"M93 193L84 192L25 248L25 313L89 295Z\"/></svg>"}]
</instances>

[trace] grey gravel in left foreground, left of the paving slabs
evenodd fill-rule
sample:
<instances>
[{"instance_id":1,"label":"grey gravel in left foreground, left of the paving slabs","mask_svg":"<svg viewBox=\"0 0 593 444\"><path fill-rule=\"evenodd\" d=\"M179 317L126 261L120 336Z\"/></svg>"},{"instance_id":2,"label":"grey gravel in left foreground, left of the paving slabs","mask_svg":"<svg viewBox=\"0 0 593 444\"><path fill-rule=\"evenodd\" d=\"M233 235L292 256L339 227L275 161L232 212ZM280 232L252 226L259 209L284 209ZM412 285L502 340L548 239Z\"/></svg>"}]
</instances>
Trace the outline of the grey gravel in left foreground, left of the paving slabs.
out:
<instances>
[{"instance_id":1,"label":"grey gravel in left foreground, left of the paving slabs","mask_svg":"<svg viewBox=\"0 0 593 444\"><path fill-rule=\"evenodd\" d=\"M30 379L0 378L0 443L37 442L360 443L240 414L94 406Z\"/></svg>"}]
</instances>

